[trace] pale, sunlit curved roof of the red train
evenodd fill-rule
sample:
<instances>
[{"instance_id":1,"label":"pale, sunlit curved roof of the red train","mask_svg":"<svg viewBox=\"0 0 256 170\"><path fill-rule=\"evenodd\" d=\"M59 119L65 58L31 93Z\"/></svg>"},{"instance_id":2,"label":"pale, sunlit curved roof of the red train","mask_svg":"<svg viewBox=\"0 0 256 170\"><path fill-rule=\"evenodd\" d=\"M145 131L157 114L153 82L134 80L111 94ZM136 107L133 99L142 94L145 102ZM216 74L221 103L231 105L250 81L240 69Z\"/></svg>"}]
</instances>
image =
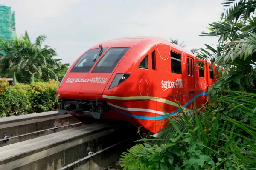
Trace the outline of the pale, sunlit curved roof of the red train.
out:
<instances>
[{"instance_id":1,"label":"pale, sunlit curved roof of the red train","mask_svg":"<svg viewBox=\"0 0 256 170\"><path fill-rule=\"evenodd\" d=\"M170 45L171 47L176 48L177 50L183 51L186 54L189 54L190 56L193 56L197 59L200 59L200 58L196 57L194 53L192 53L191 51L186 50L183 47L180 47L179 45L176 45L176 44L174 44L172 42L169 42L169 41L167 41L163 38L160 38L160 37L150 37L150 36L116 38L116 39L100 42L99 44L94 45L90 49L99 48L100 44L102 44L103 48L104 48L104 46L106 46L106 47L133 47L134 45L138 44L142 40L151 41L152 42L151 46L154 46L156 44Z\"/></svg>"}]
</instances>

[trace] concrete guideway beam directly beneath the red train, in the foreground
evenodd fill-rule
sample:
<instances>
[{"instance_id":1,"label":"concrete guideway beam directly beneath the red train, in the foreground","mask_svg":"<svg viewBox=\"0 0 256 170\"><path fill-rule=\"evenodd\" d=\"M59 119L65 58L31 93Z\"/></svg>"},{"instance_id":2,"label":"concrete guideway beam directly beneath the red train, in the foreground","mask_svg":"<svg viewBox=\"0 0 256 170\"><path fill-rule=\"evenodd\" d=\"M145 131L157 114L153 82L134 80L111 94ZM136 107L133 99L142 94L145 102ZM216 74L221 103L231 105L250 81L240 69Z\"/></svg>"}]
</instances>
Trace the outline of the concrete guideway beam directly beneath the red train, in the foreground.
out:
<instances>
[{"instance_id":1,"label":"concrete guideway beam directly beneath the red train, in the foreground","mask_svg":"<svg viewBox=\"0 0 256 170\"><path fill-rule=\"evenodd\" d=\"M124 141L136 133L133 130L124 123L92 123L3 146L0 169L99 170L119 159L128 147ZM89 153L93 154L87 157Z\"/></svg>"}]
</instances>

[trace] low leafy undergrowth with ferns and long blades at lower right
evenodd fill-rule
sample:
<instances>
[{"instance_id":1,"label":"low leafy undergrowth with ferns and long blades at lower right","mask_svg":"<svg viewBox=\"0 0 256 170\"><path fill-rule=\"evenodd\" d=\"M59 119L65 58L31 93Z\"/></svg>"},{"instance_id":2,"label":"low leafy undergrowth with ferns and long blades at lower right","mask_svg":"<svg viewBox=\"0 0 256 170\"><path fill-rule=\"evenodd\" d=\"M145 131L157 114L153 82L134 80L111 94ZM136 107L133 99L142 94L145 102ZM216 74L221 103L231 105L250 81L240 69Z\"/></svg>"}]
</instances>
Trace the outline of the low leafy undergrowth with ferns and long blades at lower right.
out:
<instances>
[{"instance_id":1,"label":"low leafy undergrowth with ferns and long blades at lower right","mask_svg":"<svg viewBox=\"0 0 256 170\"><path fill-rule=\"evenodd\" d=\"M168 114L159 138L148 137L121 155L125 170L245 170L256 168L256 94L222 91L203 111ZM165 111L164 111L165 112ZM194 113L197 113L195 108Z\"/></svg>"}]
</instances>

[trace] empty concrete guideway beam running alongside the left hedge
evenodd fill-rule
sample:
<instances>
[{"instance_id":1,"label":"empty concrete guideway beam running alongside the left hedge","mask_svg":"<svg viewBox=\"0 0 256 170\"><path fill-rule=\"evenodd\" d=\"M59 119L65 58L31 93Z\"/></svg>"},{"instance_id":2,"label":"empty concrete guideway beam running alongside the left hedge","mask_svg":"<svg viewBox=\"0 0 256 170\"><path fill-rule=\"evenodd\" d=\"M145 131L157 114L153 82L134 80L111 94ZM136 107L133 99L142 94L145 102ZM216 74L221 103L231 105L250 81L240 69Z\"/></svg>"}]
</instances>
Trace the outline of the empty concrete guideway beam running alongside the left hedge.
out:
<instances>
[{"instance_id":1,"label":"empty concrete guideway beam running alongside the left hedge","mask_svg":"<svg viewBox=\"0 0 256 170\"><path fill-rule=\"evenodd\" d=\"M70 114L58 111L0 118L0 147L78 126L81 123Z\"/></svg>"}]
</instances>

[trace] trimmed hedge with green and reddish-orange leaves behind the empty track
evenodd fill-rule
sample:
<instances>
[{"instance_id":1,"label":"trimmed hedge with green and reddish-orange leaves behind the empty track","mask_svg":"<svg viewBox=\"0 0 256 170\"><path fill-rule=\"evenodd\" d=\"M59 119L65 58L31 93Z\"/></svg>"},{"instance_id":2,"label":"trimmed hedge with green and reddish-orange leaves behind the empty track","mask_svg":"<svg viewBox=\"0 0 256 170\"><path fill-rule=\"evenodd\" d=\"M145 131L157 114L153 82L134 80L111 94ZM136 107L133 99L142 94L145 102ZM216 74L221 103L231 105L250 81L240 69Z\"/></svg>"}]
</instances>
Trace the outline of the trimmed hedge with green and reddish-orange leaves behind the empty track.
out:
<instances>
[{"instance_id":1,"label":"trimmed hedge with green and reddish-orange leaves behind the empty track","mask_svg":"<svg viewBox=\"0 0 256 170\"><path fill-rule=\"evenodd\" d=\"M0 117L56 110L58 84L49 80L11 86L6 79L0 80Z\"/></svg>"}]
</instances>

